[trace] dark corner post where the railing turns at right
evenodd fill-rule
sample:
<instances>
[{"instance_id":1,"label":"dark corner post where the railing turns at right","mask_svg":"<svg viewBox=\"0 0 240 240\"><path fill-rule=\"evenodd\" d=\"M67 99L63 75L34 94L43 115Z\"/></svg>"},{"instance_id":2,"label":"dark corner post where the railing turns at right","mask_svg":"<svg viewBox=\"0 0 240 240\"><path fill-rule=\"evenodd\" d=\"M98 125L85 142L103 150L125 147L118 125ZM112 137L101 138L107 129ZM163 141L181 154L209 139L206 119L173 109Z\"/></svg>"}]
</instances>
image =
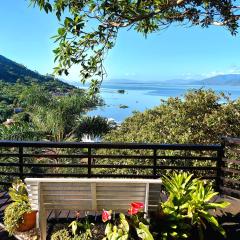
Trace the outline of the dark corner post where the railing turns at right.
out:
<instances>
[{"instance_id":1,"label":"dark corner post where the railing turns at right","mask_svg":"<svg viewBox=\"0 0 240 240\"><path fill-rule=\"evenodd\" d=\"M224 158L224 149L225 149L225 142L221 140L221 148L217 151L217 176L216 176L216 190L219 194L222 194L223 181L222 181L222 166L223 166L223 158Z\"/></svg>"}]
</instances>

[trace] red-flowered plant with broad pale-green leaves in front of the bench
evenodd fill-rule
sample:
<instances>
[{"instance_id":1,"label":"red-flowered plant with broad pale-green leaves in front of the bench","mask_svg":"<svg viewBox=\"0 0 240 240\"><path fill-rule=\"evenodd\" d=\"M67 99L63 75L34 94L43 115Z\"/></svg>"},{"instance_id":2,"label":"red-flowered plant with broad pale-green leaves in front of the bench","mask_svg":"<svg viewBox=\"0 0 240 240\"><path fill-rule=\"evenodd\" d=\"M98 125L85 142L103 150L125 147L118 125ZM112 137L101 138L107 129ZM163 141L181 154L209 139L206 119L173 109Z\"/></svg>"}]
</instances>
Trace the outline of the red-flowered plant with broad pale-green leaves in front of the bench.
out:
<instances>
[{"instance_id":1,"label":"red-flowered plant with broad pale-green leaves in front of the bench","mask_svg":"<svg viewBox=\"0 0 240 240\"><path fill-rule=\"evenodd\" d=\"M149 231L149 223L144 219L144 204L141 202L133 202L128 210L129 217L123 213L119 214L119 219L114 222L108 222L105 229L103 240L128 240L142 239L153 240L153 236ZM110 221L112 211L103 210L103 222ZM136 238L137 237L137 238Z\"/></svg>"}]
</instances>

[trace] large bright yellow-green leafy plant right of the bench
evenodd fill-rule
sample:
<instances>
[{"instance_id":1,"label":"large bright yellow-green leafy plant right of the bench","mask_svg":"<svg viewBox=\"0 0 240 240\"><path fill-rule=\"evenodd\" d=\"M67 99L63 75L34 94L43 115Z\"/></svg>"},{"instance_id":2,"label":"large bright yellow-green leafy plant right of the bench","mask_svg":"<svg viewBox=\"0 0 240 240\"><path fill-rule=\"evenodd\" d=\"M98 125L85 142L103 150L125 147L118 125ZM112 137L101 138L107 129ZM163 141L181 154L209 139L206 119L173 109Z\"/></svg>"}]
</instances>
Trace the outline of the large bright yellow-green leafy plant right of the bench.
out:
<instances>
[{"instance_id":1,"label":"large bright yellow-green leafy plant right of the bench","mask_svg":"<svg viewBox=\"0 0 240 240\"><path fill-rule=\"evenodd\" d=\"M210 226L226 237L224 229L209 212L225 208L228 202L211 202L218 193L210 183L193 179L187 173L173 173L163 177L168 199L161 204L159 238L162 239L206 239L205 230Z\"/></svg>"}]
</instances>

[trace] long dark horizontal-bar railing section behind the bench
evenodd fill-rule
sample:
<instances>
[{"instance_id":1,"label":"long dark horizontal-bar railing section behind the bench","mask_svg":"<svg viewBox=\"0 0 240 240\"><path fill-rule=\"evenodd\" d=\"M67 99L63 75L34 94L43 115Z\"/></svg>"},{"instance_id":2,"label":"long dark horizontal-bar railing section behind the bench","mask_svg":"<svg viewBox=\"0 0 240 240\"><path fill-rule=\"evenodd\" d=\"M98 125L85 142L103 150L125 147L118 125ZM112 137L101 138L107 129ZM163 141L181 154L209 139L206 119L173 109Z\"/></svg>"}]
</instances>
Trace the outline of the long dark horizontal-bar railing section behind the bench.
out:
<instances>
[{"instance_id":1,"label":"long dark horizontal-bar railing section behind the bench","mask_svg":"<svg viewBox=\"0 0 240 240\"><path fill-rule=\"evenodd\" d=\"M190 171L221 183L222 145L0 141L1 184L19 177L158 178Z\"/></svg>"}]
</instances>

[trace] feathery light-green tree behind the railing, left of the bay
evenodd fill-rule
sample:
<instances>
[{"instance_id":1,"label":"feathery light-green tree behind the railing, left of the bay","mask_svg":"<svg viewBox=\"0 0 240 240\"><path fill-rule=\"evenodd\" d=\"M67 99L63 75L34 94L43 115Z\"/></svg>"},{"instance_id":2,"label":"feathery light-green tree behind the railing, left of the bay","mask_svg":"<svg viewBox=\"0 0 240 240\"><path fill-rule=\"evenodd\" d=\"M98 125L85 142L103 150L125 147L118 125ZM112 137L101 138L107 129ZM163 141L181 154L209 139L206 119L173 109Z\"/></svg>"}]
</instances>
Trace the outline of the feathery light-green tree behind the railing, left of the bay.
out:
<instances>
[{"instance_id":1,"label":"feathery light-green tree behind the railing, left of the bay","mask_svg":"<svg viewBox=\"0 0 240 240\"><path fill-rule=\"evenodd\" d=\"M80 116L101 105L98 96L91 97L75 89L64 95L54 95L45 91L44 86L33 84L19 94L19 102L29 114L29 121L48 140L63 141L73 134ZM77 136L80 140L81 135Z\"/></svg>"}]
</instances>

